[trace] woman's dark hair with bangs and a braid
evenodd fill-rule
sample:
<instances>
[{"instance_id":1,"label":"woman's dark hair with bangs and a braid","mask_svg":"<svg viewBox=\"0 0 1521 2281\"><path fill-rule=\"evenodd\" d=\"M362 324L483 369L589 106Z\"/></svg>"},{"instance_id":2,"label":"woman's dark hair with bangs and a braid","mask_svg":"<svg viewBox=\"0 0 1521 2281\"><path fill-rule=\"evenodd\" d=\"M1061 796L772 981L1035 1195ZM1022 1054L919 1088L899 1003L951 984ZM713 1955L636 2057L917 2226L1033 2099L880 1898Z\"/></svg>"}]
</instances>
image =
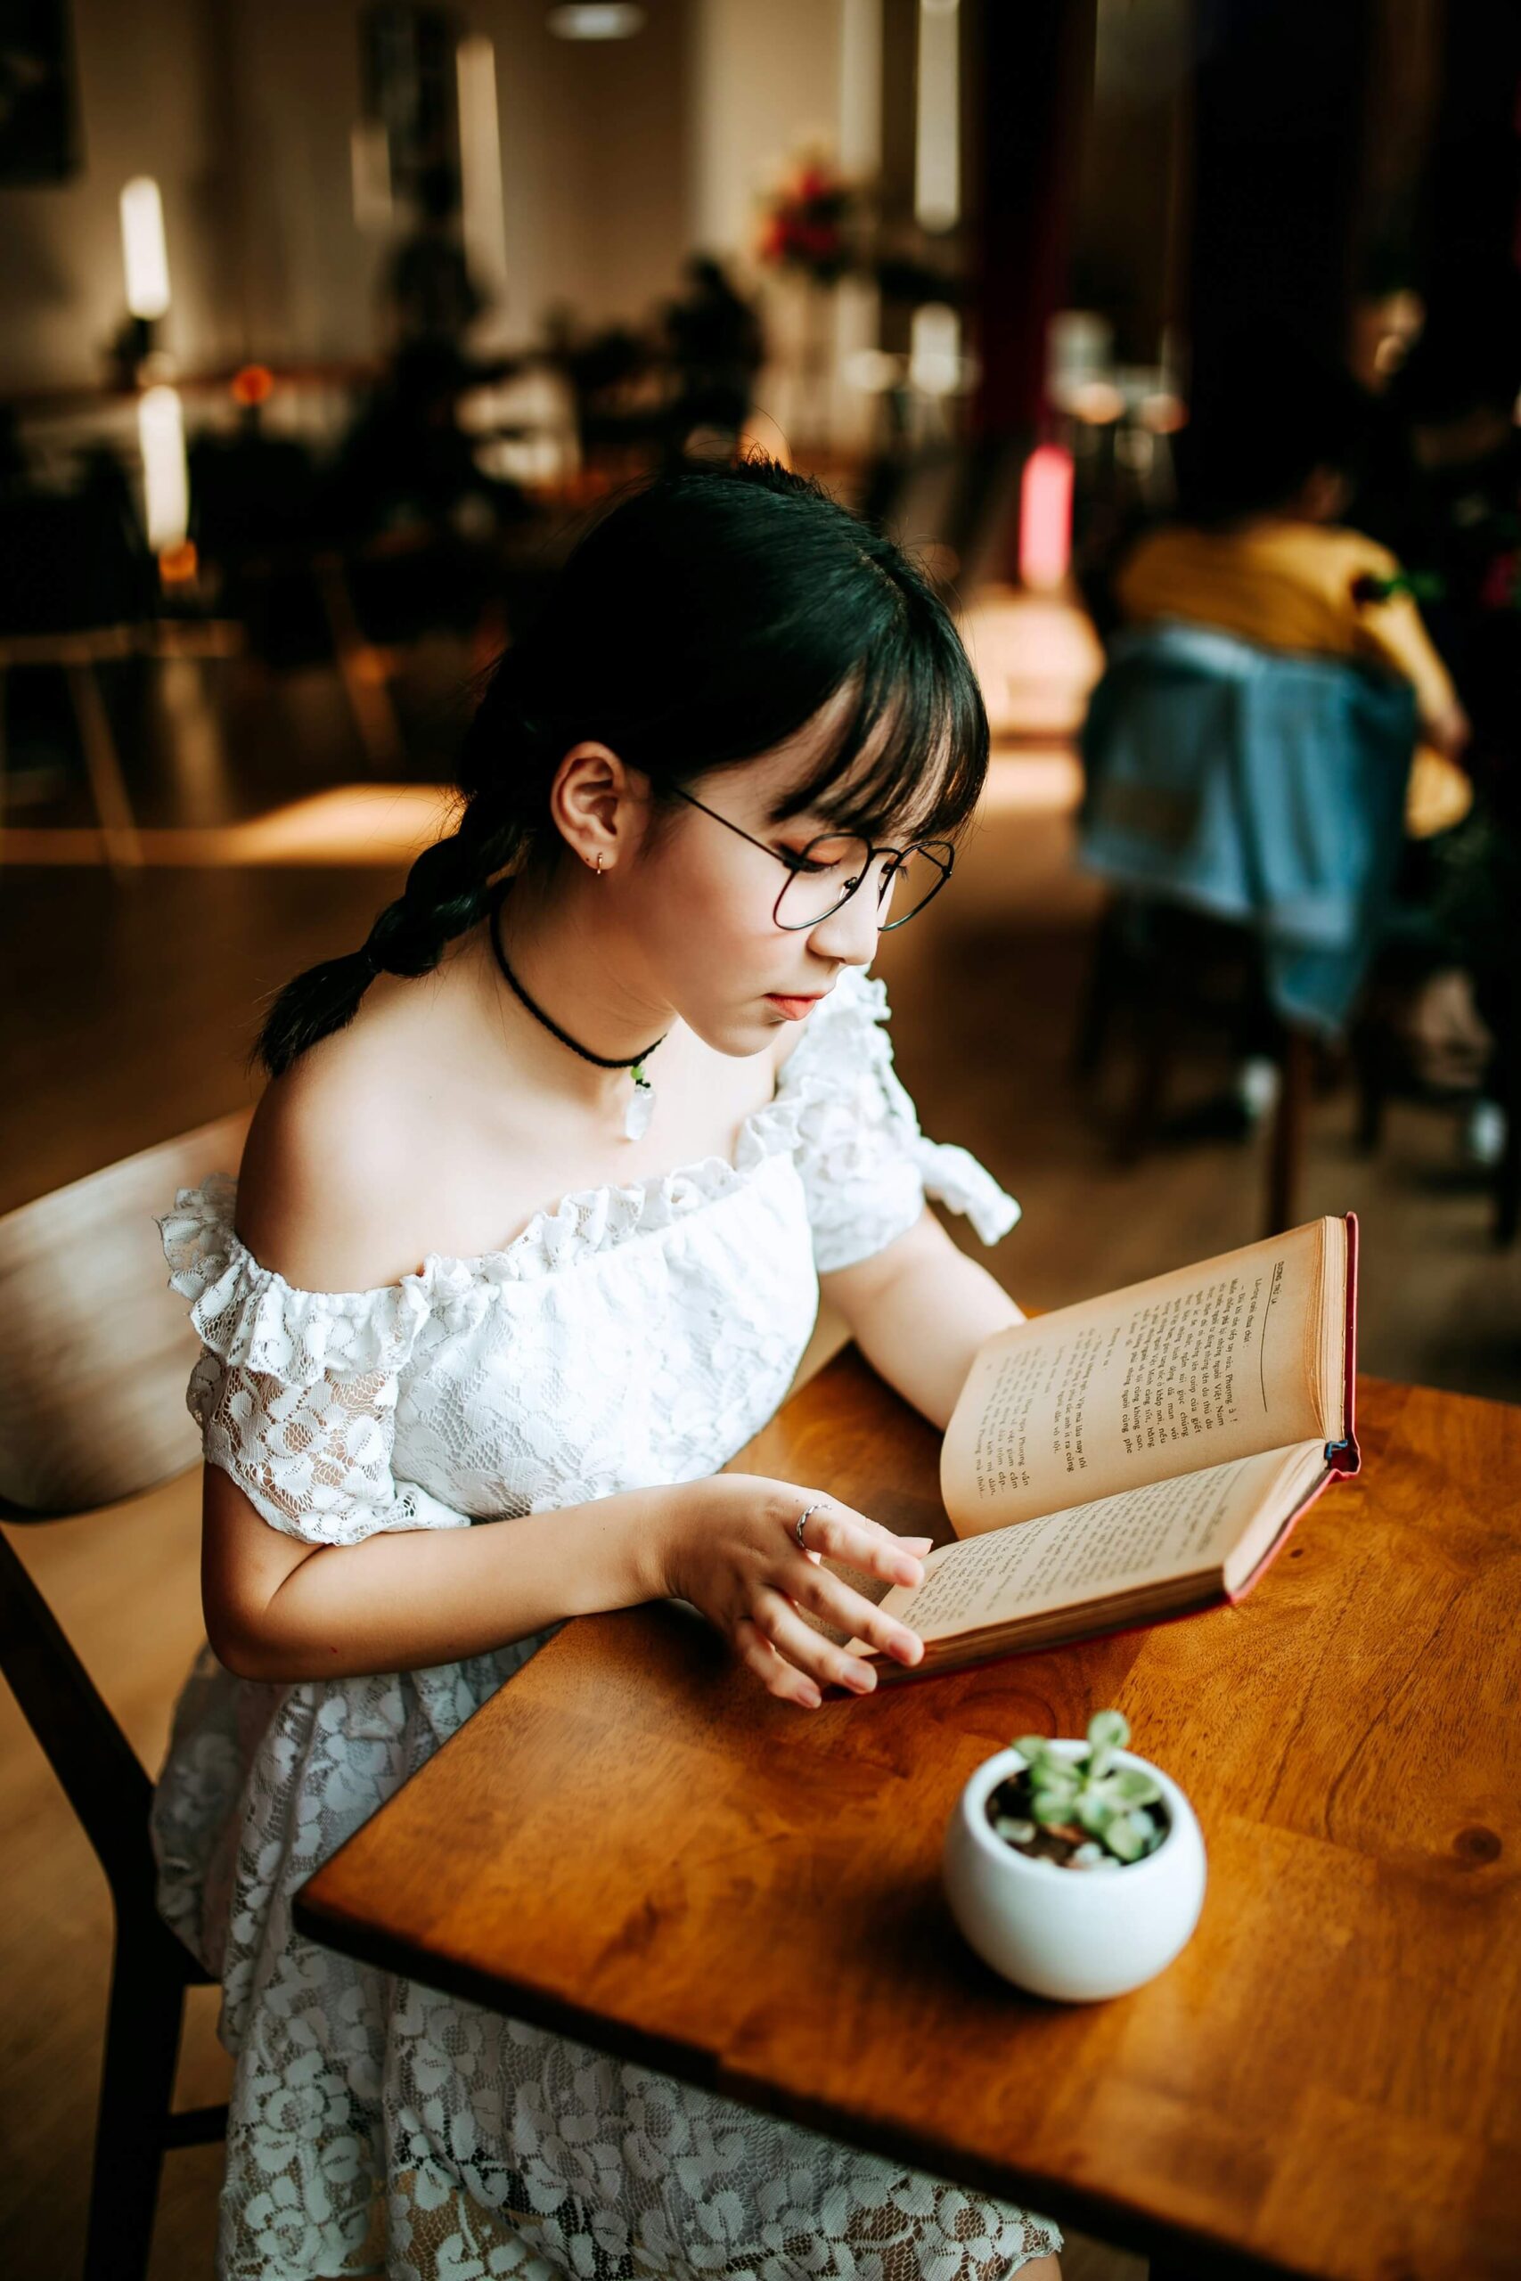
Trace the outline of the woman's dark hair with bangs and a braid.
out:
<instances>
[{"instance_id":1,"label":"woman's dark hair with bangs and a braid","mask_svg":"<svg viewBox=\"0 0 1521 2281\"><path fill-rule=\"evenodd\" d=\"M550 785L581 739L639 769L657 803L794 737L839 689L837 734L778 810L839 830L953 837L987 771L987 716L921 570L814 479L768 458L691 465L625 493L579 538L538 618L497 659L465 734L454 833L349 958L276 997L271 1074L353 1020L376 974L429 974L538 858Z\"/></svg>"}]
</instances>

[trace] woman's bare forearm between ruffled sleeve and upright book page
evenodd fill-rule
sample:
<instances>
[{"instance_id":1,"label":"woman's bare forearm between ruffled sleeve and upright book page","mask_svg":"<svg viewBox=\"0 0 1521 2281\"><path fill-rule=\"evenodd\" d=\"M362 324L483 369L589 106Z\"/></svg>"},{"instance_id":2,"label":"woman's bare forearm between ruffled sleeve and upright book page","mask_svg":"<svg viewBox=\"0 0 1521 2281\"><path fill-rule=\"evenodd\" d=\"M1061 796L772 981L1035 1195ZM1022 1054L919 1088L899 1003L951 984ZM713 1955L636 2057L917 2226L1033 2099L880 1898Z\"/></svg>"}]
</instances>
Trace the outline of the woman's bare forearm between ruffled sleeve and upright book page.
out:
<instances>
[{"instance_id":1,"label":"woman's bare forearm between ruffled sleeve and upright book page","mask_svg":"<svg viewBox=\"0 0 1521 2281\"><path fill-rule=\"evenodd\" d=\"M942 1432L983 1339L1024 1323L987 1268L951 1243L935 1213L853 1268L821 1275L867 1362Z\"/></svg>"}]
</instances>

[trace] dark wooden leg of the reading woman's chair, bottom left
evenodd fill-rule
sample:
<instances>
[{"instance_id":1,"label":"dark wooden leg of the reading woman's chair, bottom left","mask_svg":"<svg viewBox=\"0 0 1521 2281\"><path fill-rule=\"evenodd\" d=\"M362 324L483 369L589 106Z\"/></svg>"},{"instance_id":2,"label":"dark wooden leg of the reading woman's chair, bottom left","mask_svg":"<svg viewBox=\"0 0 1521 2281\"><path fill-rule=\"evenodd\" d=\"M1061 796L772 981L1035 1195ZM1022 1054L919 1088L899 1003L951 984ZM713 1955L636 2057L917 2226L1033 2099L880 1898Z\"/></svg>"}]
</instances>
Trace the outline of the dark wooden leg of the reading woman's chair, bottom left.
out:
<instances>
[{"instance_id":1,"label":"dark wooden leg of the reading woman's chair, bottom left","mask_svg":"<svg viewBox=\"0 0 1521 2281\"><path fill-rule=\"evenodd\" d=\"M185 1959L166 1925L116 1930L105 2019L84 2281L144 2281L185 2014Z\"/></svg>"}]
</instances>

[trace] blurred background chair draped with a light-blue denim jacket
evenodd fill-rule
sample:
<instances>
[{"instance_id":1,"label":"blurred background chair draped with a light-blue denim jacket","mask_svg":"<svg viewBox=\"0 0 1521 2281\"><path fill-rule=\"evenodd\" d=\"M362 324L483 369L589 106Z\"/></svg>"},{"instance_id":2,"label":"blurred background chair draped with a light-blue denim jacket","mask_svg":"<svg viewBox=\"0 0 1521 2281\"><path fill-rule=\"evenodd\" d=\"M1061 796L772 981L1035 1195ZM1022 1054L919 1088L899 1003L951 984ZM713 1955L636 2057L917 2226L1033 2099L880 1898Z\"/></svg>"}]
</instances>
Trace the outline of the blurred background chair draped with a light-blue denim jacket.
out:
<instances>
[{"instance_id":1,"label":"blurred background chair draped with a light-blue denim jacket","mask_svg":"<svg viewBox=\"0 0 1521 2281\"><path fill-rule=\"evenodd\" d=\"M1295 1218L1311 1045L1345 1036L1389 912L1414 730L1405 682L1181 623L1120 634L1090 700L1079 853L1117 901L1079 1065L1124 1008L1138 1152L1190 1020L1270 1049L1268 1229Z\"/></svg>"}]
</instances>

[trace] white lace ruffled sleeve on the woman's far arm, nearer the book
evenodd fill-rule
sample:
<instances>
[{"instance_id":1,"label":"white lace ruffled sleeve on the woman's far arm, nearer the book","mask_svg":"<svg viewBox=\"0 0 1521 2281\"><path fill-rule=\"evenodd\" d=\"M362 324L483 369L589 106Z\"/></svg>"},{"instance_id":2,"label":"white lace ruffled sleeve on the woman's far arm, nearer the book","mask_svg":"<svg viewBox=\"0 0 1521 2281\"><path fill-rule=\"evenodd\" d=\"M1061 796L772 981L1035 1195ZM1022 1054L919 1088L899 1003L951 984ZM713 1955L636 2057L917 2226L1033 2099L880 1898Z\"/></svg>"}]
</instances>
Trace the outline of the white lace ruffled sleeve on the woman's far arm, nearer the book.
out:
<instances>
[{"instance_id":1,"label":"white lace ruffled sleeve on the woman's far arm, nearer the book","mask_svg":"<svg viewBox=\"0 0 1521 2281\"><path fill-rule=\"evenodd\" d=\"M983 1243L1019 1218L976 1156L924 1138L885 1022L885 985L848 969L782 1065L778 1104L796 1111L821 1275L885 1250L914 1225L926 1195L965 1211Z\"/></svg>"}]
</instances>

